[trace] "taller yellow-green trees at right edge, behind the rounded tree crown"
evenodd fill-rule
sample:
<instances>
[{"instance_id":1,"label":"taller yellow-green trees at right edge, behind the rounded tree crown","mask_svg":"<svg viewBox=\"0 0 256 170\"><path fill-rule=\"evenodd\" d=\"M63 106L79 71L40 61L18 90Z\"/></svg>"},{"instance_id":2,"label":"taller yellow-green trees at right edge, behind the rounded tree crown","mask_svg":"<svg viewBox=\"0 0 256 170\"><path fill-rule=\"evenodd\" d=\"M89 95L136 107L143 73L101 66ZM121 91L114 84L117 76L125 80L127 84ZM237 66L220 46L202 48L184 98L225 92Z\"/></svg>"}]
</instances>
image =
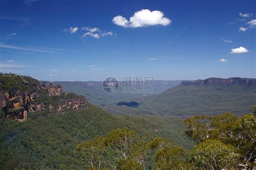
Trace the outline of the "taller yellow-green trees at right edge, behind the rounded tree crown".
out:
<instances>
[{"instance_id":1,"label":"taller yellow-green trees at right edge, behind the rounded tree crown","mask_svg":"<svg viewBox=\"0 0 256 170\"><path fill-rule=\"evenodd\" d=\"M218 140L227 146L237 148L239 163L253 167L255 159L256 116L245 114L241 118L232 113L213 117L195 116L184 121L185 133L198 142Z\"/></svg>"}]
</instances>

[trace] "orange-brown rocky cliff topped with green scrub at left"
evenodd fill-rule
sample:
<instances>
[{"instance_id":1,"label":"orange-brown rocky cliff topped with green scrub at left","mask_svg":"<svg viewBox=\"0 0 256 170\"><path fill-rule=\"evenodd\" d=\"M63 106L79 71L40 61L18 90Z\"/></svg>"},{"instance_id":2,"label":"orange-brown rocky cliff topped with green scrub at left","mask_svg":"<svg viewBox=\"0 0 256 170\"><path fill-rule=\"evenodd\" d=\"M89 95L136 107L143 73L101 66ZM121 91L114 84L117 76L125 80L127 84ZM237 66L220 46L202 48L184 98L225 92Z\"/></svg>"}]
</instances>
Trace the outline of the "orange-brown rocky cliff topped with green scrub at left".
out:
<instances>
[{"instance_id":1,"label":"orange-brown rocky cliff topped with green scrub at left","mask_svg":"<svg viewBox=\"0 0 256 170\"><path fill-rule=\"evenodd\" d=\"M51 114L65 113L68 110L86 110L84 96L65 93L60 85L39 84L36 79L16 74L0 74L1 119L26 121L29 114L44 111Z\"/></svg>"}]
</instances>

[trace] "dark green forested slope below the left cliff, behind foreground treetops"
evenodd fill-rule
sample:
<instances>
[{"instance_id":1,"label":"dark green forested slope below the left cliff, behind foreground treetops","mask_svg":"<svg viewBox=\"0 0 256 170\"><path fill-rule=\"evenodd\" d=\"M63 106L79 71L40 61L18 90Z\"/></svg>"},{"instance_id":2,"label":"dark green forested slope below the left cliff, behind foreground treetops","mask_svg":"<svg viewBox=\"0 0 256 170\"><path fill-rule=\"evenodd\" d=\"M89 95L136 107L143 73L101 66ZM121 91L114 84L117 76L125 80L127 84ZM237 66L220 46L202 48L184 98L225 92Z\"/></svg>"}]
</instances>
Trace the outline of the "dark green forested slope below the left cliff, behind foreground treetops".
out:
<instances>
[{"instance_id":1,"label":"dark green forested slope below the left cliff, behind foreground treetops","mask_svg":"<svg viewBox=\"0 0 256 170\"><path fill-rule=\"evenodd\" d=\"M172 139L186 149L194 145L183 134L185 125L177 118L113 116L91 105L86 111L58 115L29 113L28 121L21 123L4 121L0 125L0 165L9 169L83 169L87 164L76 146L122 127L140 136Z\"/></svg>"}]
</instances>

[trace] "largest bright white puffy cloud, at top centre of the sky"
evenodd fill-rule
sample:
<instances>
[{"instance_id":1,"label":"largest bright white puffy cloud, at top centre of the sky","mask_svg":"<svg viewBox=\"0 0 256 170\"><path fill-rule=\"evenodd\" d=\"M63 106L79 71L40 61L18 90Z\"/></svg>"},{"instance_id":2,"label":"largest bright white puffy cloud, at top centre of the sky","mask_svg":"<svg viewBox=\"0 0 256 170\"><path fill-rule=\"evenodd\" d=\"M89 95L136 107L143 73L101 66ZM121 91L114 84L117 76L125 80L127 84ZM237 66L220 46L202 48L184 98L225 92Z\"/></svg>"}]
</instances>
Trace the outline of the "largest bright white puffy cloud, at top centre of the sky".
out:
<instances>
[{"instance_id":1,"label":"largest bright white puffy cloud, at top centre of the sky","mask_svg":"<svg viewBox=\"0 0 256 170\"><path fill-rule=\"evenodd\" d=\"M164 17L164 13L161 11L150 11L148 9L143 9L134 13L128 21L123 16L116 16L112 19L112 22L118 26L138 28L151 25L169 25L171 20Z\"/></svg>"}]
</instances>

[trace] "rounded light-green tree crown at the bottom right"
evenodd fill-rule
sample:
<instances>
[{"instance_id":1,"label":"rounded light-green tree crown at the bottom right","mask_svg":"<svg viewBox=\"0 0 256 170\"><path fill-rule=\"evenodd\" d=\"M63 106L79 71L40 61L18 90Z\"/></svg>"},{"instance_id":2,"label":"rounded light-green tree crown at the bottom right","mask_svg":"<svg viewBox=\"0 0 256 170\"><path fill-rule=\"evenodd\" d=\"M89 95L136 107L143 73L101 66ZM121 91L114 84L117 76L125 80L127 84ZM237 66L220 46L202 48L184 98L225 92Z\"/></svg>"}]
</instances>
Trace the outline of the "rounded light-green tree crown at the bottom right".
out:
<instances>
[{"instance_id":1,"label":"rounded light-green tree crown at the bottom right","mask_svg":"<svg viewBox=\"0 0 256 170\"><path fill-rule=\"evenodd\" d=\"M239 155L235 153L234 147L219 140L208 139L196 145L190 157L199 167L221 169L236 167Z\"/></svg>"}]
</instances>

